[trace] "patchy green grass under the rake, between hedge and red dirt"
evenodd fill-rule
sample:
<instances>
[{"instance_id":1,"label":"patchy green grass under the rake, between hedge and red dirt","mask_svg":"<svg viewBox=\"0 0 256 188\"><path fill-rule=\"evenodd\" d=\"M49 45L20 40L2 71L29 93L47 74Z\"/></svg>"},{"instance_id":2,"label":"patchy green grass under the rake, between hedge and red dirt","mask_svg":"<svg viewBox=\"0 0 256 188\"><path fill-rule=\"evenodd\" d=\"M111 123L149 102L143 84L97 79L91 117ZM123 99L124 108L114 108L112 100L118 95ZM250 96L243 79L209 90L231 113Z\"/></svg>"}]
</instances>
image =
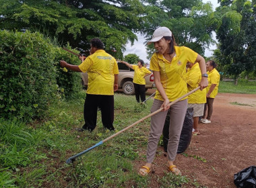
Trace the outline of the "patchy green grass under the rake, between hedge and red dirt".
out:
<instances>
[{"instance_id":1,"label":"patchy green grass under the rake, between hedge and red dirt","mask_svg":"<svg viewBox=\"0 0 256 188\"><path fill-rule=\"evenodd\" d=\"M150 187L150 177L140 177L134 169L136 161L145 161L150 119L77 158L73 164L65 160L90 148L115 132L102 127L98 112L96 129L77 132L84 124L85 93L75 100L62 101L51 107L49 117L41 122L24 124L18 120L0 120L0 187ZM152 100L146 105L134 96L115 94L117 131L150 113ZM200 185L187 177L170 173L158 179L164 187Z\"/></svg>"}]
</instances>

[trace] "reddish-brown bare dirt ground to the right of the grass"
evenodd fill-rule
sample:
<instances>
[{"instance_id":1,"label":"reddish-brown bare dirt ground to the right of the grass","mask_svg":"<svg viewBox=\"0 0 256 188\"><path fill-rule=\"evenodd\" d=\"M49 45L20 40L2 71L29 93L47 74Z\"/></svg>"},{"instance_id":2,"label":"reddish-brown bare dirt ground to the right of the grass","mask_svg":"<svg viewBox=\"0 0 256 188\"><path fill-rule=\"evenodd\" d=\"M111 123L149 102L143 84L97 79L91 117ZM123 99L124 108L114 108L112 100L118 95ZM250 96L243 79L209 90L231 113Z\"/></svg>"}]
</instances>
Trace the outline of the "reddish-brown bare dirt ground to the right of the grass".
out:
<instances>
[{"instance_id":1,"label":"reddish-brown bare dirt ground to the right of the grass","mask_svg":"<svg viewBox=\"0 0 256 188\"><path fill-rule=\"evenodd\" d=\"M234 174L256 165L256 95L218 93L212 123L199 124L199 132L200 135L192 136L185 152L189 156L178 154L174 164L183 175L197 179L205 187L236 187ZM150 173L150 187L159 187L157 179L166 172L166 161L166 154L159 147L152 166L155 173Z\"/></svg>"}]
</instances>

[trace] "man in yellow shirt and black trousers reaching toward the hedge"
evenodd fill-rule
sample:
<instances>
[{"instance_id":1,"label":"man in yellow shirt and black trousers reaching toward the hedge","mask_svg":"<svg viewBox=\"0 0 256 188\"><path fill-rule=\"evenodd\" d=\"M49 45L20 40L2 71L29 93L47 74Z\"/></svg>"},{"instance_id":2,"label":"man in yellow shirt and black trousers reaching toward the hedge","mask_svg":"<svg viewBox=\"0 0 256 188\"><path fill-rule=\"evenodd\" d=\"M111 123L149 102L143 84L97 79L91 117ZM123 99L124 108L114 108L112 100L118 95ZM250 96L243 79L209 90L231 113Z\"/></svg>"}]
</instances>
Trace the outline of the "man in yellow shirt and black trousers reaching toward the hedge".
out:
<instances>
[{"instance_id":1,"label":"man in yellow shirt and black trousers reaching toward the hedge","mask_svg":"<svg viewBox=\"0 0 256 188\"><path fill-rule=\"evenodd\" d=\"M76 72L88 72L88 89L84 103L83 130L92 131L96 127L97 111L100 106L102 124L108 130L115 130L114 122L114 91L117 91L119 69L113 56L106 53L104 44L99 38L90 41L90 56L79 66L60 61L62 67Z\"/></svg>"}]
</instances>

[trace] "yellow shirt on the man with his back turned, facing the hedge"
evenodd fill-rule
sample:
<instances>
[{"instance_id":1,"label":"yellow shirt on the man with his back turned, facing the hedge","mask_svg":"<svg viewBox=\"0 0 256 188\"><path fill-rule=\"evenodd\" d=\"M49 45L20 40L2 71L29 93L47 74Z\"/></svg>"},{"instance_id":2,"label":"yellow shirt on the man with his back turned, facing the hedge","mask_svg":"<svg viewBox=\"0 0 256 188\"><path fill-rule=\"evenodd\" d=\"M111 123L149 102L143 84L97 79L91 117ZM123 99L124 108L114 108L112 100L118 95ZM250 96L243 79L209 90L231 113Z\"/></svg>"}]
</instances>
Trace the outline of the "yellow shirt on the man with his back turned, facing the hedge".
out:
<instances>
[{"instance_id":1,"label":"yellow shirt on the man with his back turned, facing the hedge","mask_svg":"<svg viewBox=\"0 0 256 188\"><path fill-rule=\"evenodd\" d=\"M104 50L97 50L78 66L88 71L88 94L114 95L114 75L119 74L117 61Z\"/></svg>"}]
</instances>

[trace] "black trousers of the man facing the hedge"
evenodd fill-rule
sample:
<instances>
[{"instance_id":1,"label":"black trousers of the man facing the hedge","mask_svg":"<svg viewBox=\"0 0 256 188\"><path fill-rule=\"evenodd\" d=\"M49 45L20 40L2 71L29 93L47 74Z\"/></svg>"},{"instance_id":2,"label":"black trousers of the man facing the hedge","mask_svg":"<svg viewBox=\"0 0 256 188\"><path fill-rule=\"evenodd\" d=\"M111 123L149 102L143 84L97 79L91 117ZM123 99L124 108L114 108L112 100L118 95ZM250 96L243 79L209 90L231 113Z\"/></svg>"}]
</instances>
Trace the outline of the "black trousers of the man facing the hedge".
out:
<instances>
[{"instance_id":1,"label":"black trousers of the man facing the hedge","mask_svg":"<svg viewBox=\"0 0 256 188\"><path fill-rule=\"evenodd\" d=\"M94 130L97 123L98 107L101 110L102 124L109 130L115 130L114 122L114 95L91 95L86 94L84 103L84 126L85 130Z\"/></svg>"}]
</instances>

